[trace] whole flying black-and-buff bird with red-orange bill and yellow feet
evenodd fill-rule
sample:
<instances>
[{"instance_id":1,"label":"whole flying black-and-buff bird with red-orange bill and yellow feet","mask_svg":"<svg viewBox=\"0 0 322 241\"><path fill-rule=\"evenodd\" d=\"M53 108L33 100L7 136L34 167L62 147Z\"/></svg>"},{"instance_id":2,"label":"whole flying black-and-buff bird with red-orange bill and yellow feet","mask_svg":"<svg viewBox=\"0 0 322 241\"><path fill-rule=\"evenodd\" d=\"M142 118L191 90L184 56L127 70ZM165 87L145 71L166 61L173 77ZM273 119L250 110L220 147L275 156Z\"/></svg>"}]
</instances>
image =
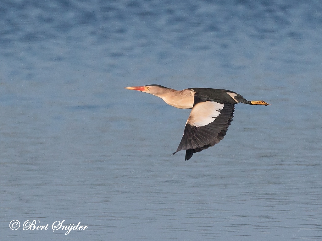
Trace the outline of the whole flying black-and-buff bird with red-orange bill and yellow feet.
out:
<instances>
[{"instance_id":1,"label":"whole flying black-and-buff bird with red-orange bill and yellow feet","mask_svg":"<svg viewBox=\"0 0 322 241\"><path fill-rule=\"evenodd\" d=\"M236 92L213 88L188 88L175 90L162 85L125 87L160 97L179 109L192 109L185 124L183 137L177 150L185 150L185 160L194 153L218 144L226 135L232 122L234 105L270 105L265 101L248 101Z\"/></svg>"}]
</instances>

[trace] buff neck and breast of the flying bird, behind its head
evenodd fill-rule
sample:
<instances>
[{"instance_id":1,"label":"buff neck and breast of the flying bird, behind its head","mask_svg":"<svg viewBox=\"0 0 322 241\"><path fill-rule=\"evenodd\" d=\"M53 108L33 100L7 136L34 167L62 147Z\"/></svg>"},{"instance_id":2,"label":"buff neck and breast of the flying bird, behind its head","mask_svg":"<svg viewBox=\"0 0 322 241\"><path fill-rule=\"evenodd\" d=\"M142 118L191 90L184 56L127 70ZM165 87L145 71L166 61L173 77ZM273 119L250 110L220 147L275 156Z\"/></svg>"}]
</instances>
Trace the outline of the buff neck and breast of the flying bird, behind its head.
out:
<instances>
[{"instance_id":1,"label":"buff neck and breast of the flying bird, behind its head","mask_svg":"<svg viewBox=\"0 0 322 241\"><path fill-rule=\"evenodd\" d=\"M169 105L179 109L191 109L194 106L194 92L189 89L168 89L166 93L156 95Z\"/></svg>"}]
</instances>

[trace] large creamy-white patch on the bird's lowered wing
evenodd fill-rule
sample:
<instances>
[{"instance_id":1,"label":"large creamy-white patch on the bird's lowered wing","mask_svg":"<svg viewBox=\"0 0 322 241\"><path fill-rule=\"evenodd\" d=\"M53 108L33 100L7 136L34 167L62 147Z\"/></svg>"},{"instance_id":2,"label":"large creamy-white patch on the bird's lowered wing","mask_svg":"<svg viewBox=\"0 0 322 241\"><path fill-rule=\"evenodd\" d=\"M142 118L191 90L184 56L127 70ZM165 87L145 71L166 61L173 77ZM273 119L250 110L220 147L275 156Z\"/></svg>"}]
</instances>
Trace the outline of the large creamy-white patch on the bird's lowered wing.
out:
<instances>
[{"instance_id":1,"label":"large creamy-white patch on the bird's lowered wing","mask_svg":"<svg viewBox=\"0 0 322 241\"><path fill-rule=\"evenodd\" d=\"M195 127L201 127L213 122L220 114L224 104L214 101L197 103L189 115L187 123ZM186 124L187 124L186 123Z\"/></svg>"}]
</instances>

